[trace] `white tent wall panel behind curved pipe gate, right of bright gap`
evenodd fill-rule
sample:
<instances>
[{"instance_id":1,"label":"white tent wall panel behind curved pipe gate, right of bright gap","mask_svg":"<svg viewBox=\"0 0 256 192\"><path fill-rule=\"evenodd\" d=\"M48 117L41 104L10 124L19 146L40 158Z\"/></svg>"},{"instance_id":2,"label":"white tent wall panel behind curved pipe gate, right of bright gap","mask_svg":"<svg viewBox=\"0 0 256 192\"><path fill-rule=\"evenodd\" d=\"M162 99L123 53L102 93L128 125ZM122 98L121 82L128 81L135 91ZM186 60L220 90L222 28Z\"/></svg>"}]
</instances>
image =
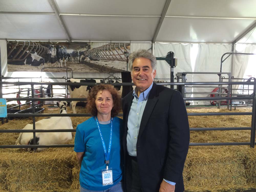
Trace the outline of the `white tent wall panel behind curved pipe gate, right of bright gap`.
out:
<instances>
[{"instance_id":1,"label":"white tent wall panel behind curved pipe gate, right of bright gap","mask_svg":"<svg viewBox=\"0 0 256 192\"><path fill-rule=\"evenodd\" d=\"M194 72L220 72L221 56L231 52L231 44L198 44L198 54L195 62ZM231 72L231 57L223 62L222 72ZM226 78L227 75L223 75ZM194 82L218 82L217 74L194 74ZM193 88L193 92L211 92L211 88ZM194 94L193 97L209 97L209 94ZM199 101L198 104L210 104L209 101Z\"/></svg>"}]
</instances>

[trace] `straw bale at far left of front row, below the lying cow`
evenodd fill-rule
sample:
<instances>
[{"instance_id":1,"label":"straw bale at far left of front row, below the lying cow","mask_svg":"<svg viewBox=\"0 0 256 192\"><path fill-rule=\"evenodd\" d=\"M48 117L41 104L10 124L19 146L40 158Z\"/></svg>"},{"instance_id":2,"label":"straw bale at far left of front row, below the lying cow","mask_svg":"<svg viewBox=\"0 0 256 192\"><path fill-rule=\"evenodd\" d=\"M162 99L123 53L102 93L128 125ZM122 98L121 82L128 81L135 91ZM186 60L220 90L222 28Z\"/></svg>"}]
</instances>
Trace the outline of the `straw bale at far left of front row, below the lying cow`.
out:
<instances>
[{"instance_id":1,"label":"straw bale at far left of front row, below the lying cow","mask_svg":"<svg viewBox=\"0 0 256 192\"><path fill-rule=\"evenodd\" d=\"M24 153L22 151L3 153L0 162L7 164L6 182L9 191L56 190L70 188L70 159L73 153L56 154Z\"/></svg>"}]
</instances>

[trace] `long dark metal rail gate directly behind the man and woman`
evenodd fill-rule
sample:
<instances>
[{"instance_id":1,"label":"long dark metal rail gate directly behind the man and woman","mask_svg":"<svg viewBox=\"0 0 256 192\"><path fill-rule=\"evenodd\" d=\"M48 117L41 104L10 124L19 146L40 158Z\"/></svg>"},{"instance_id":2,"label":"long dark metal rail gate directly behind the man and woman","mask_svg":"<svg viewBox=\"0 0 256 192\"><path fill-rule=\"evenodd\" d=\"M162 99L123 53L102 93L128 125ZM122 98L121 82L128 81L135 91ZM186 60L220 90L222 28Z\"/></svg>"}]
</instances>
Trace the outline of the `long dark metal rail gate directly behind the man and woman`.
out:
<instances>
[{"instance_id":1,"label":"long dark metal rail gate directly behind the man and woman","mask_svg":"<svg viewBox=\"0 0 256 192\"><path fill-rule=\"evenodd\" d=\"M1 79L2 80L2 79ZM7 117L33 117L33 130L0 130L0 133L20 133L20 132L33 132L34 135L34 144L33 145L1 145L0 148L49 148L49 147L74 147L73 144L64 144L64 145L35 145L35 133L36 132L76 132L76 130L66 130L66 129L59 129L59 130L35 130L35 117L43 116L43 117L49 117L49 116L91 116L90 114L36 114L35 113L35 101L62 101L63 98L35 98L34 96L34 86L35 85L80 85L80 86L87 86L87 85L95 85L97 83L67 83L67 82L59 82L59 83L52 83L52 82L0 82L0 87L3 87L3 84L5 85L30 85L31 86L31 93L32 97L29 99L32 101L32 111L33 114L7 114ZM235 85L235 84L242 84L242 85L253 85L253 95L252 96L246 96L241 98L234 98L234 97L215 97L215 100L253 100L252 104L252 112L228 112L228 113L188 113L189 116L196 116L196 115L252 115L251 118L251 127L214 127L214 128L193 128L190 127L190 131L219 131L219 130L250 130L250 142L231 142L231 143L190 143L190 146L203 146L203 145L250 145L251 147L254 147L255 145L255 130L256 130L256 81L254 82L184 82L184 83L157 83L161 85L179 85L179 86L191 86L191 85ZM133 83L112 83L112 85L122 85L122 86L131 86ZM0 97L2 98L2 89L0 90ZM6 98L8 101L24 101L27 100L27 98ZM86 98L66 98L66 101L86 101ZM187 100L212 100L212 98L184 98L185 101ZM119 114L118 116L122 116L122 114Z\"/></svg>"}]
</instances>

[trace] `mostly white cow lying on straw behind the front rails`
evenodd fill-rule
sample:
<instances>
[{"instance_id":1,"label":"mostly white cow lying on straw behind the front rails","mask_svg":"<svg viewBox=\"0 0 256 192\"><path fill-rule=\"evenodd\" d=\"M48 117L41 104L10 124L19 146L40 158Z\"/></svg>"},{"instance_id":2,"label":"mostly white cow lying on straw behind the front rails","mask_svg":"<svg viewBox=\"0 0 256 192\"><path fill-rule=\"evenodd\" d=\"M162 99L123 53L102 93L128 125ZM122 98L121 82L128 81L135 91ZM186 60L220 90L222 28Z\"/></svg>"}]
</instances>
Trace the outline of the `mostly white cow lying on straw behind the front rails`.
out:
<instances>
[{"instance_id":1,"label":"mostly white cow lying on straw behind the front rails","mask_svg":"<svg viewBox=\"0 0 256 192\"><path fill-rule=\"evenodd\" d=\"M58 103L60 113L67 113L67 102ZM33 124L27 124L23 129L33 129ZM70 117L47 117L36 122L36 129L73 129ZM64 144L72 139L71 132L36 133L37 145ZM20 133L15 145L33 145L33 133ZM42 151L46 148L28 148L27 151Z\"/></svg>"}]
</instances>

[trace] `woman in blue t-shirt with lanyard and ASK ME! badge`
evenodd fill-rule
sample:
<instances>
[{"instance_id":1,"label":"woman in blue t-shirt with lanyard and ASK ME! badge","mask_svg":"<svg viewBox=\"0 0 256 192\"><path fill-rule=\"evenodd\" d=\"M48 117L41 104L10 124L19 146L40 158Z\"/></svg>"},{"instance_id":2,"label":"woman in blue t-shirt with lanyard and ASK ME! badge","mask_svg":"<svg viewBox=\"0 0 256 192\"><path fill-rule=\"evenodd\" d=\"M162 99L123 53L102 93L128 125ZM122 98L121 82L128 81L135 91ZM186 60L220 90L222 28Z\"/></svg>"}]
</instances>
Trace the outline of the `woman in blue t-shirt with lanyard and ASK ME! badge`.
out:
<instances>
[{"instance_id":1,"label":"woman in blue t-shirt with lanyard and ASK ME! badge","mask_svg":"<svg viewBox=\"0 0 256 192\"><path fill-rule=\"evenodd\" d=\"M120 96L113 86L99 84L91 89L86 108L93 117L77 126L74 146L81 192L123 192L123 120L115 117L120 107Z\"/></svg>"}]
</instances>

